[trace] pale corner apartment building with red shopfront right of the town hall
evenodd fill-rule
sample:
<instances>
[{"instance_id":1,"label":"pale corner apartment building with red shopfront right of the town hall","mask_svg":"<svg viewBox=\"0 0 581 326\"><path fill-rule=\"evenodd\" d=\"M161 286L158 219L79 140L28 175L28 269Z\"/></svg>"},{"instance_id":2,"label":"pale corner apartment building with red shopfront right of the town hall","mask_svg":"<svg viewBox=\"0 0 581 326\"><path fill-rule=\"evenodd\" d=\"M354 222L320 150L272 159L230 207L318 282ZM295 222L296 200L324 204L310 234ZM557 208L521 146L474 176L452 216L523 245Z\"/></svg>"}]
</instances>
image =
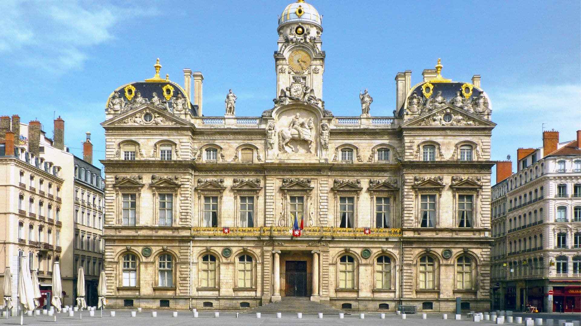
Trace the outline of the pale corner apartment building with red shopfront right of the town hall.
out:
<instances>
[{"instance_id":1,"label":"pale corner apartment building with red shopfront right of the town hall","mask_svg":"<svg viewBox=\"0 0 581 326\"><path fill-rule=\"evenodd\" d=\"M581 131L562 143L557 131L546 131L543 147L518 149L516 173L497 172L491 206L495 307L581 312L580 147Z\"/></svg>"}]
</instances>

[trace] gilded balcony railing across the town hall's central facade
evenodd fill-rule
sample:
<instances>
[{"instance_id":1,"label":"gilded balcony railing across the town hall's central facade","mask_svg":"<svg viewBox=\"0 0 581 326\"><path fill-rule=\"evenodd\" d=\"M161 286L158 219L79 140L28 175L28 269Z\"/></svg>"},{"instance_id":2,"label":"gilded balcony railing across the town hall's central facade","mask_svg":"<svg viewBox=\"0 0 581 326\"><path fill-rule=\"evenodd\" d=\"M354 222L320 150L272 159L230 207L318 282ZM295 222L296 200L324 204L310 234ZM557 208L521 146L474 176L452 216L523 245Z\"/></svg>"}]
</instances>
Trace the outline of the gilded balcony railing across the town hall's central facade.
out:
<instances>
[{"instance_id":1,"label":"gilded balcony railing across the town hall's central facade","mask_svg":"<svg viewBox=\"0 0 581 326\"><path fill-rule=\"evenodd\" d=\"M292 236L292 227L192 227L192 236L268 237ZM401 237L401 229L305 227L303 237Z\"/></svg>"}]
</instances>

